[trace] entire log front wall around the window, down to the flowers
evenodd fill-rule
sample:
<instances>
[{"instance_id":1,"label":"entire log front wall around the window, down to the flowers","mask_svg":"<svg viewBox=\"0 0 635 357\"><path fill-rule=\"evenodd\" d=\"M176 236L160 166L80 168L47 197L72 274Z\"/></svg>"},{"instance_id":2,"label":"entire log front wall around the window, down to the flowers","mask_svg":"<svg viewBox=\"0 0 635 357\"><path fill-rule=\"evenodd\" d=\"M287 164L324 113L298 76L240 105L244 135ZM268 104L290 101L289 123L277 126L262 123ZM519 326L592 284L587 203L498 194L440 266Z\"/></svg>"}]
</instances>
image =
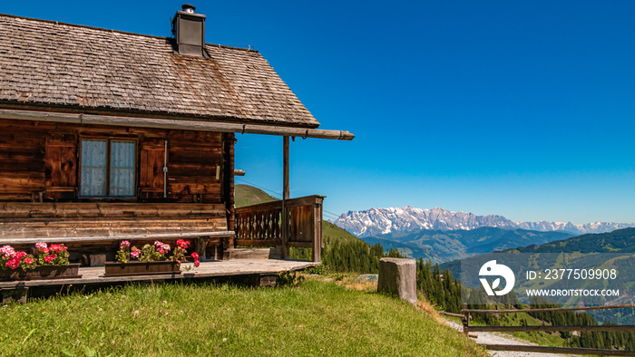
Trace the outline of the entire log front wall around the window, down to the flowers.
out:
<instances>
[{"instance_id":1,"label":"entire log front wall around the window, down to the flowers","mask_svg":"<svg viewBox=\"0 0 635 357\"><path fill-rule=\"evenodd\" d=\"M136 142L134 198L79 196L83 138ZM126 237L200 233L203 251L233 247L233 150L233 133L0 118L0 242L60 238L77 254L109 258Z\"/></svg>"}]
</instances>

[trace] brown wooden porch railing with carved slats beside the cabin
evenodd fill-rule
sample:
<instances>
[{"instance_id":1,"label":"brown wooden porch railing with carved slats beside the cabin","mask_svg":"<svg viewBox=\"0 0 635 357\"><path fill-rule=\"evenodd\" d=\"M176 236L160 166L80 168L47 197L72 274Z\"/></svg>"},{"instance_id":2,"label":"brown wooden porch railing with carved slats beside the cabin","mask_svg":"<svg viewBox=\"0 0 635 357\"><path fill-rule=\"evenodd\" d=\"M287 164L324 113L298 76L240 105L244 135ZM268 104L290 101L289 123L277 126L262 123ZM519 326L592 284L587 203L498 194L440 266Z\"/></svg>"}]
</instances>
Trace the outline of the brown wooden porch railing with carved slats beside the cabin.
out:
<instances>
[{"instance_id":1,"label":"brown wooden porch railing with carved slats beside the cabin","mask_svg":"<svg viewBox=\"0 0 635 357\"><path fill-rule=\"evenodd\" d=\"M236 208L234 243L236 246L279 246L284 257L288 257L291 246L309 247L313 249L313 261L319 262L323 200L324 196L315 195Z\"/></svg>"}]
</instances>

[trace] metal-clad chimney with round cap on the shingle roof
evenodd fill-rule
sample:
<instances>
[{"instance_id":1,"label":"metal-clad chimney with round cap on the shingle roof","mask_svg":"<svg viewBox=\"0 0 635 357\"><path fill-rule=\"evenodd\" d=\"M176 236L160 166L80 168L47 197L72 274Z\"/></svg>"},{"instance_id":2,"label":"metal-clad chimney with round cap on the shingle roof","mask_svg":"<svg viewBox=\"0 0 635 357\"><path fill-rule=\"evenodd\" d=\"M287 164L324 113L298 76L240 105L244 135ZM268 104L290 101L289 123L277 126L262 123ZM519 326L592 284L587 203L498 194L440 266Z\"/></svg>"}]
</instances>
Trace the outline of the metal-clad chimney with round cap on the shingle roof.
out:
<instances>
[{"instance_id":1,"label":"metal-clad chimney with round cap on the shingle roof","mask_svg":"<svg viewBox=\"0 0 635 357\"><path fill-rule=\"evenodd\" d=\"M183 4L182 11L177 11L172 19L172 34L179 54L207 57L205 45L205 16L195 14L196 7Z\"/></svg>"}]
</instances>

